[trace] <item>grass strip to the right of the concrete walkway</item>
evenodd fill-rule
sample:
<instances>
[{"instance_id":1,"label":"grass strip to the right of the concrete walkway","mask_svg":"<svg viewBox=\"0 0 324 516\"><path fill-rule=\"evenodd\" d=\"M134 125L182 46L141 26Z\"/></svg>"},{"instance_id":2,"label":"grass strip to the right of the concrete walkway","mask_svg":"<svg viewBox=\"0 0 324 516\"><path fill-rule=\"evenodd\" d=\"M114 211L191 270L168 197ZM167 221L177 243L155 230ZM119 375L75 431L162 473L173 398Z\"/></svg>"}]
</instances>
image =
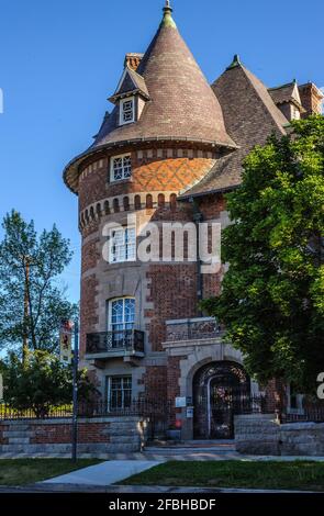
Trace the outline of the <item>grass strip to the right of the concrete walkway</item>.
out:
<instances>
[{"instance_id":1,"label":"grass strip to the right of the concrete walkway","mask_svg":"<svg viewBox=\"0 0 324 516\"><path fill-rule=\"evenodd\" d=\"M324 491L324 462L169 461L121 483Z\"/></svg>"}]
</instances>

